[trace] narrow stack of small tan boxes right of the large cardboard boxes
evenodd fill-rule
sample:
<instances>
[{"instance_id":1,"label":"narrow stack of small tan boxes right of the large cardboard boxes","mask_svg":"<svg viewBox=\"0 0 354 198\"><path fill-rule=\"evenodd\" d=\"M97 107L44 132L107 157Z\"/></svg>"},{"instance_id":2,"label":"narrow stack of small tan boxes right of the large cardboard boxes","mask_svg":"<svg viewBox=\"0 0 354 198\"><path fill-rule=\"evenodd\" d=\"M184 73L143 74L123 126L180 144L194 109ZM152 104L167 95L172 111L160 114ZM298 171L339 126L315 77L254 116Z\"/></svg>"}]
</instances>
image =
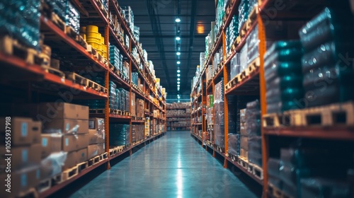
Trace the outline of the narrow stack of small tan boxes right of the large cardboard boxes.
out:
<instances>
[{"instance_id":1,"label":"narrow stack of small tan boxes right of the large cardboard boxes","mask_svg":"<svg viewBox=\"0 0 354 198\"><path fill-rule=\"evenodd\" d=\"M103 118L90 118L89 120L89 146L87 156L89 159L105 152L105 120Z\"/></svg>"}]
</instances>

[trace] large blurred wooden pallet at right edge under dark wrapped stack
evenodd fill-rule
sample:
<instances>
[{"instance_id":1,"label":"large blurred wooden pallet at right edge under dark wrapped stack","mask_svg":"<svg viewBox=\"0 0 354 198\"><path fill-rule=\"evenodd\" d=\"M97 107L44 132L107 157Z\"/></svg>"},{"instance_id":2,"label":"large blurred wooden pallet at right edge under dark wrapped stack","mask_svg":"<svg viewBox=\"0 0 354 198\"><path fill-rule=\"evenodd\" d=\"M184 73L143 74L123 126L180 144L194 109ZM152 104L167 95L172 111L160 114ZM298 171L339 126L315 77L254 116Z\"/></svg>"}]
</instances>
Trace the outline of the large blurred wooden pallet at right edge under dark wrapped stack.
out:
<instances>
[{"instance_id":1,"label":"large blurred wooden pallet at right edge under dark wrapped stack","mask_svg":"<svg viewBox=\"0 0 354 198\"><path fill-rule=\"evenodd\" d=\"M354 127L354 102L286 111L283 122L295 127Z\"/></svg>"}]
</instances>

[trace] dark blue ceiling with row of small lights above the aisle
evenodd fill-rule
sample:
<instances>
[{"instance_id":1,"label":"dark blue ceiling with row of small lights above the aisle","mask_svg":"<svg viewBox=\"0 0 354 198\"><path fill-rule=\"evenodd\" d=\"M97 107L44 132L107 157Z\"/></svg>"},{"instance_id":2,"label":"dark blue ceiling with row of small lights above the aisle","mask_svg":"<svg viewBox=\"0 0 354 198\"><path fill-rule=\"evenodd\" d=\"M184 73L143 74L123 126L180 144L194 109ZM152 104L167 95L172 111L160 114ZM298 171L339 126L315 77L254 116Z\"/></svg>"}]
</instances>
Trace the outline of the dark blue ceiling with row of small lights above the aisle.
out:
<instances>
[{"instance_id":1,"label":"dark blue ceiling with row of small lights above the aisle","mask_svg":"<svg viewBox=\"0 0 354 198\"><path fill-rule=\"evenodd\" d=\"M161 78L167 99L175 100L178 94L182 100L189 99L191 80L200 64L200 52L205 51L205 37L210 33L211 21L215 21L215 1L119 0L118 4L132 8L134 25L140 28L139 42L154 63L156 78ZM175 21L178 16L180 23ZM178 32L180 41L176 41ZM177 50L181 50L179 58ZM181 77L177 76L178 67ZM181 78L180 91L177 78Z\"/></svg>"}]
</instances>

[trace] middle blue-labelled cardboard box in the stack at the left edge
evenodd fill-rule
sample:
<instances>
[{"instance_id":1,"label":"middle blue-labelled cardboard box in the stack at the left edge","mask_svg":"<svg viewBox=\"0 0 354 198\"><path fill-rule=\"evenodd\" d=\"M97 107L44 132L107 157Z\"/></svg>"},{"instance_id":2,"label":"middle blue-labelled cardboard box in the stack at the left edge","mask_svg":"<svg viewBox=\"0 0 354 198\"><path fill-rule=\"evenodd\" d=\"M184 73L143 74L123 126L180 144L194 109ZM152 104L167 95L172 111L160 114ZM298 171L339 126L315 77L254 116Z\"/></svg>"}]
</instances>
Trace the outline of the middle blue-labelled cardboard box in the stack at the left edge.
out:
<instances>
[{"instance_id":1,"label":"middle blue-labelled cardboard box in the stack at the left edge","mask_svg":"<svg viewBox=\"0 0 354 198\"><path fill-rule=\"evenodd\" d=\"M5 154L8 154L6 153L6 149L0 149L1 161L5 161L11 157L11 171L20 170L21 168L25 168L30 165L40 165L40 153L42 152L41 150L41 144L11 147L12 156L5 156ZM4 163L4 165L6 164Z\"/></svg>"}]
</instances>

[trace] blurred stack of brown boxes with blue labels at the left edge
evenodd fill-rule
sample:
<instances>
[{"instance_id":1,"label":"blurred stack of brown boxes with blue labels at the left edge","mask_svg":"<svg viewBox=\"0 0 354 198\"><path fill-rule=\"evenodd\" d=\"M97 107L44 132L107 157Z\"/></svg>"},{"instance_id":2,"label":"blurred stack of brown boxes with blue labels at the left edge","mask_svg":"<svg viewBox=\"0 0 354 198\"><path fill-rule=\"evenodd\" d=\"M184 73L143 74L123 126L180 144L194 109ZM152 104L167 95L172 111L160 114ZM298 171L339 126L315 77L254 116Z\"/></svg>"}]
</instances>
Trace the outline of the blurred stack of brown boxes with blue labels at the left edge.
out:
<instances>
[{"instance_id":1,"label":"blurred stack of brown boxes with blue labels at the left edge","mask_svg":"<svg viewBox=\"0 0 354 198\"><path fill-rule=\"evenodd\" d=\"M41 152L41 123L25 117L1 117L1 121L0 135L4 140L1 141L4 149L1 149L0 154L4 163L0 164L0 179L5 187L11 184L11 192L25 192L40 182L38 152ZM11 130L11 136L6 134L6 127ZM11 177L8 177L8 174L11 174ZM1 190L0 197L8 197L8 194Z\"/></svg>"}]
</instances>

